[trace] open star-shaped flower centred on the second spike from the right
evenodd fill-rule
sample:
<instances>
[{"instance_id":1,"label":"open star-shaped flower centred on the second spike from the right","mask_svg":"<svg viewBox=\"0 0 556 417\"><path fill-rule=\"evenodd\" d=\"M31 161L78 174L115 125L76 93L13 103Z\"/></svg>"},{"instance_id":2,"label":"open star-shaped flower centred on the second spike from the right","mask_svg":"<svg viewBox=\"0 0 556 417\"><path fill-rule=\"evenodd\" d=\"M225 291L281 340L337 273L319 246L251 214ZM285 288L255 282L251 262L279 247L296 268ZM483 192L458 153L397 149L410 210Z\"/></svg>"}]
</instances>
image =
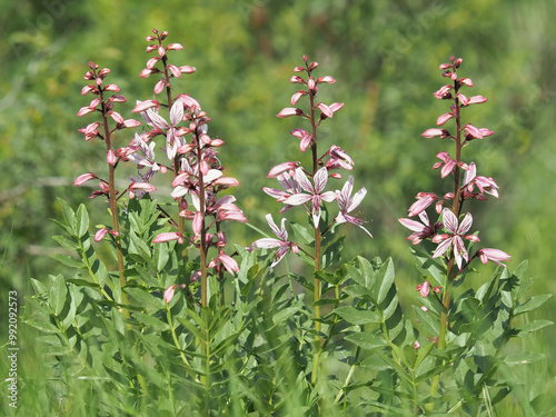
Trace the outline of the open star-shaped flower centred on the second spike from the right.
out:
<instances>
[{"instance_id":1,"label":"open star-shaped flower centred on the second spike from the right","mask_svg":"<svg viewBox=\"0 0 556 417\"><path fill-rule=\"evenodd\" d=\"M322 167L315 173L315 176L312 177L315 186L309 181L301 168L296 169L296 179L301 188L309 193L294 193L284 202L290 206L299 206L311 201L312 221L315 228L317 228L320 221L320 205L322 203L322 201L331 202L336 199L336 193L334 191L324 192L326 183L328 181L328 170L326 169L326 167Z\"/></svg>"}]
</instances>

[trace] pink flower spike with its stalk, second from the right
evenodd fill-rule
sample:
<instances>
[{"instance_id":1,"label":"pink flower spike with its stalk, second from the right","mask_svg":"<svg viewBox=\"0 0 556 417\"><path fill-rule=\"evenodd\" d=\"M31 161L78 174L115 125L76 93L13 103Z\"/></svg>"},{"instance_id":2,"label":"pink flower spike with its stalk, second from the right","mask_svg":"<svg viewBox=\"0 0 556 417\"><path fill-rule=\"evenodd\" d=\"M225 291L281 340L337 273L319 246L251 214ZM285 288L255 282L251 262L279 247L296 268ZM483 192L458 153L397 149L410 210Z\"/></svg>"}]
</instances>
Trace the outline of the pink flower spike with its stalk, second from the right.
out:
<instances>
[{"instance_id":1,"label":"pink flower spike with its stalk, second from the right","mask_svg":"<svg viewBox=\"0 0 556 417\"><path fill-rule=\"evenodd\" d=\"M291 136L299 139L299 149L301 152L310 148L311 168L306 170L301 167L300 162L287 161L274 167L268 173L269 178L277 178L284 190L274 188L264 188L265 192L275 197L278 201L285 205L280 212L284 212L291 207L302 206L310 217L312 226L314 248L301 249L295 242L288 240L288 234L285 228L285 219L281 221L281 228L278 229L270 215L267 216L267 221L272 231L279 239L265 238L255 241L255 248L279 248L276 252L276 260L271 264L274 268L287 251L291 250L294 254L305 254L310 257L315 266L315 280L314 280L314 324L315 324L315 341L314 341L314 360L311 384L316 385L319 374L319 361L322 348L321 334L321 316L320 316L320 300L322 291L322 282L319 278L321 272L328 265L322 265L322 238L327 232L331 232L335 224L351 222L363 227L363 220L349 216L348 212L353 211L365 197L366 190L363 188L354 198L351 198L351 190L354 178L344 186L342 190L326 190L328 179L340 179L341 175L331 172L336 169L351 170L354 161L351 158L339 147L332 145L324 155L320 155L319 139L317 130L328 118L332 118L334 113L344 107L344 103L334 102L326 105L317 102L316 97L319 86L322 83L334 83L336 80L332 77L324 76L316 78L314 71L318 67L317 62L311 62L306 56L302 57L304 66L295 67L295 76L290 78L290 82L300 85L301 90L298 90L291 97L291 106L297 106L302 97L307 97L309 101L308 111L304 111L299 107L284 108L277 116L279 118L300 117L307 120L310 125L309 131L298 128L291 131ZM331 219L322 216L322 206L327 202L337 200L339 214L336 218ZM365 228L364 228L365 229ZM366 229L365 229L366 230ZM367 231L367 230L366 230ZM368 234L368 231L367 231ZM370 234L369 234L370 235ZM309 255L309 252L311 252Z\"/></svg>"}]
</instances>

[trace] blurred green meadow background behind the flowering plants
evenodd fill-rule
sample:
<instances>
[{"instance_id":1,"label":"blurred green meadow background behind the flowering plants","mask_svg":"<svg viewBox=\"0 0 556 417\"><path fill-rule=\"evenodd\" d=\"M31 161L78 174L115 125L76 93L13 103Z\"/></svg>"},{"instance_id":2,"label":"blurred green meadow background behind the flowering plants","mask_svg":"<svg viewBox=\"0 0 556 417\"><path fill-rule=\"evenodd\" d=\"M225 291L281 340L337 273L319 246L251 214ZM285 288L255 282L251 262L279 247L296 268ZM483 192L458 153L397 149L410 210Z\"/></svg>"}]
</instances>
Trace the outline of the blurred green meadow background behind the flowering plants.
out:
<instances>
[{"instance_id":1,"label":"blurred green meadow background behind the flowering plants","mask_svg":"<svg viewBox=\"0 0 556 417\"><path fill-rule=\"evenodd\" d=\"M556 267L556 2L537 0L190 0L163 2L0 0L0 288L1 311L8 290L23 304L29 278L63 274L49 256L60 249L49 220L61 216L56 197L106 214L90 189L71 183L82 172L103 169L100 143L85 142L77 129L92 121L76 112L90 99L80 96L87 62L112 69L129 102L149 99L155 80L140 79L152 28L168 30L185 49L171 61L197 72L177 81L212 118L211 133L226 141L221 159L242 183L235 190L250 221L266 229L265 214L279 205L261 191L275 187L269 168L285 160L308 162L289 135L295 118L278 119L296 86L288 82L305 53L320 63L325 102L345 107L321 129L324 146L336 143L355 159L358 189L369 191L361 207L374 240L358 228L349 251L369 258L393 256L397 285L414 291L407 231L398 224L418 191L444 193L439 172L430 170L447 142L420 133L447 111L433 92L443 83L438 64L450 54L464 58L460 76L475 82L473 93L489 100L466 109L466 121L496 135L467 147L479 175L494 177L500 198L474 203L474 230L486 247L529 259L538 276L534 292L554 292ZM120 135L126 146L132 132ZM304 159L306 158L306 159ZM338 185L339 188L339 185ZM277 215L275 215L275 218ZM93 219L95 222L95 219ZM100 220L98 222L101 222ZM256 236L244 226L235 240ZM479 284L489 274L470 278ZM473 281L475 280L475 281ZM555 319L550 300L536 318ZM532 317L533 318L533 317ZM6 322L0 324L6 335ZM549 328L524 348L550 350Z\"/></svg>"}]
</instances>

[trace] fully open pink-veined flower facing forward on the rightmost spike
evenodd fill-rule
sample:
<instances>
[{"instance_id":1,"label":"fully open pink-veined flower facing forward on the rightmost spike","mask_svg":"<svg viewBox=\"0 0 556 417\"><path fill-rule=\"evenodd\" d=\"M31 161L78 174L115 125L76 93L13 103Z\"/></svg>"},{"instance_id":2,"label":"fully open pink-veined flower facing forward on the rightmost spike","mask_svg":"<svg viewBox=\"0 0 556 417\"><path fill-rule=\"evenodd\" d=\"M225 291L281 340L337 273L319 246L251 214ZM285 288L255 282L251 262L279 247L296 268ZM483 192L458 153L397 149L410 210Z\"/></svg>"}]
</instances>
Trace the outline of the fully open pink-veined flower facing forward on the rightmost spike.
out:
<instances>
[{"instance_id":1,"label":"fully open pink-veined flower facing forward on the rightmost spike","mask_svg":"<svg viewBox=\"0 0 556 417\"><path fill-rule=\"evenodd\" d=\"M469 261L463 238L470 241L479 241L479 238L475 235L465 235L473 225L473 216L468 212L465 215L461 224L459 224L456 215L454 215L450 209L445 208L443 210L443 222L448 234L437 235L433 238L434 244L439 244L433 254L433 258L444 255L451 248L454 250L456 264L458 268L461 269L461 260L465 259L466 262Z\"/></svg>"}]
</instances>

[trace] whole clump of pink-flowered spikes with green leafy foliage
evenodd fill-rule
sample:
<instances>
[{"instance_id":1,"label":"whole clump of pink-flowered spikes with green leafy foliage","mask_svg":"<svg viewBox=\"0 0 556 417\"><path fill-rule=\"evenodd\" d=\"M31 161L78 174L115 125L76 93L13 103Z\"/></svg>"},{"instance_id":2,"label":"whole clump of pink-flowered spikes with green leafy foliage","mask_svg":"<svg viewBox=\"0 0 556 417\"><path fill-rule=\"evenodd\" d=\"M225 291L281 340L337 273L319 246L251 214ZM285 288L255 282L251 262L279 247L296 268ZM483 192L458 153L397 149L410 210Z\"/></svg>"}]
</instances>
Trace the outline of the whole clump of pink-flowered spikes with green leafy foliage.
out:
<instances>
[{"instance_id":1,"label":"whole clump of pink-flowered spikes with green leafy foliage","mask_svg":"<svg viewBox=\"0 0 556 417\"><path fill-rule=\"evenodd\" d=\"M137 118L122 116L127 99L108 83L109 69L90 62L85 75L81 93L92 99L77 113L89 118L80 132L103 142L107 168L75 185L98 183L90 198L107 201L109 221L93 230L83 203L59 200L63 235L54 239L71 255L54 258L73 275L32 279L23 318L39 331L41 393L57 415L490 415L510 389L499 369L539 358L503 348L550 324L518 322L549 296L524 300L526 262L510 272L505 251L477 249L468 201L498 198L499 188L463 159L464 147L494 132L464 123L466 108L486 99L465 96L473 82L457 75L461 60L440 66L450 83L435 97L450 108L423 133L453 146L433 167L451 191L419 192L399 219L423 247L411 250L421 305L409 312L391 259L344 256L346 226L373 235L358 214L367 190L363 179L356 187L349 149L320 130L344 107L319 101L336 80L305 56L294 69L299 89L278 117L299 121L290 135L308 163L270 168L278 185L261 193L281 208L266 216L267 234L230 193L239 181L225 173L224 140L209 133L200 101L178 90L196 69L172 63L183 48L167 38L147 37L139 78L155 79L153 95L136 101ZM133 176L117 178L125 166ZM305 224L288 221L295 210ZM228 221L261 237L231 241ZM457 294L477 260L499 268Z\"/></svg>"}]
</instances>

